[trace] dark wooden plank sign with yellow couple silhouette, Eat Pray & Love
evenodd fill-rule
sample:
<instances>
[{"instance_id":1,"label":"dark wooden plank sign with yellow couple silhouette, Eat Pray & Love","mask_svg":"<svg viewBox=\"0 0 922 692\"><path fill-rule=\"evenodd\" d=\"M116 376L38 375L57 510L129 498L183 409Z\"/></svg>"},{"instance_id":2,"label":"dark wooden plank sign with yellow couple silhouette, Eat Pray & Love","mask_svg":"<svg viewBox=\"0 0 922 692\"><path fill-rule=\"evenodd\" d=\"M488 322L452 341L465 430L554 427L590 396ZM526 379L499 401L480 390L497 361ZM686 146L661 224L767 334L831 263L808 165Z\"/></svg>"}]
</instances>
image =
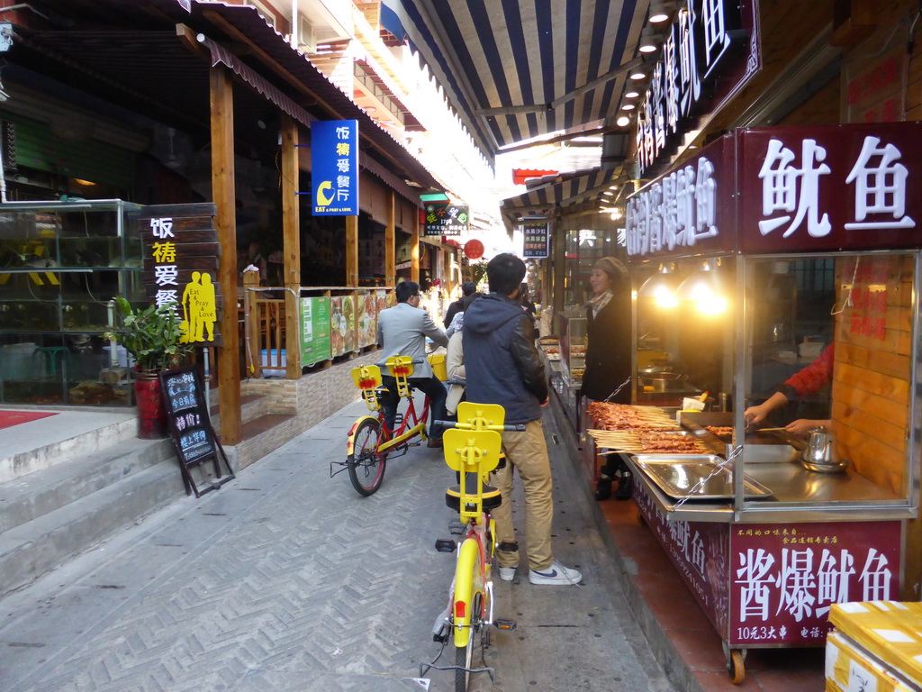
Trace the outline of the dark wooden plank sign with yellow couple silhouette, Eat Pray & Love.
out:
<instances>
[{"instance_id":1,"label":"dark wooden plank sign with yellow couple silhouette, Eat Pray & Love","mask_svg":"<svg viewBox=\"0 0 922 692\"><path fill-rule=\"evenodd\" d=\"M166 204L136 217L148 296L158 306L174 304L183 341L202 346L220 345L216 213L214 204Z\"/></svg>"}]
</instances>

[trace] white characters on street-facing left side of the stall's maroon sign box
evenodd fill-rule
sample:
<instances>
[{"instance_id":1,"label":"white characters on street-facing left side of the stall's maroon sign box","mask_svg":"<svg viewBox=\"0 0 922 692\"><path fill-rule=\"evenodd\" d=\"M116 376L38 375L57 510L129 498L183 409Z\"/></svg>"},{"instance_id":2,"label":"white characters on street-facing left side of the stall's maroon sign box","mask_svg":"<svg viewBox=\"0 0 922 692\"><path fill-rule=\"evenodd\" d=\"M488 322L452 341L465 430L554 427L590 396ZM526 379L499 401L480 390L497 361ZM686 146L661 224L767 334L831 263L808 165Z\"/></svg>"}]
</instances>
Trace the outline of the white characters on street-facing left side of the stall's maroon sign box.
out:
<instances>
[{"instance_id":1,"label":"white characters on street-facing left side of the stall's maroon sign box","mask_svg":"<svg viewBox=\"0 0 922 692\"><path fill-rule=\"evenodd\" d=\"M707 157L668 173L628 200L628 255L646 255L715 238L717 180Z\"/></svg>"}]
</instances>

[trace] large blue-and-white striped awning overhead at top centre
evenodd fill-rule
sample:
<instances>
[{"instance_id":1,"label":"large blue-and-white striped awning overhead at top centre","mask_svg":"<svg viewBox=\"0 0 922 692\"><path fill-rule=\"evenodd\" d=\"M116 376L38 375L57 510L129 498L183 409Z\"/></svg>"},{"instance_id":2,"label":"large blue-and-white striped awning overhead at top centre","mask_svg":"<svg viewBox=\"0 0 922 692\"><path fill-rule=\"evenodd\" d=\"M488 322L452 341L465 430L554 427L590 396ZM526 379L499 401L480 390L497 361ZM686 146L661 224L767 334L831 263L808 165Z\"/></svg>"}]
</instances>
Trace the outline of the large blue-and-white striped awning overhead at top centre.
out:
<instances>
[{"instance_id":1,"label":"large blue-and-white striped awning overhead at top centre","mask_svg":"<svg viewBox=\"0 0 922 692\"><path fill-rule=\"evenodd\" d=\"M480 149L613 123L649 0L383 0Z\"/></svg>"}]
</instances>

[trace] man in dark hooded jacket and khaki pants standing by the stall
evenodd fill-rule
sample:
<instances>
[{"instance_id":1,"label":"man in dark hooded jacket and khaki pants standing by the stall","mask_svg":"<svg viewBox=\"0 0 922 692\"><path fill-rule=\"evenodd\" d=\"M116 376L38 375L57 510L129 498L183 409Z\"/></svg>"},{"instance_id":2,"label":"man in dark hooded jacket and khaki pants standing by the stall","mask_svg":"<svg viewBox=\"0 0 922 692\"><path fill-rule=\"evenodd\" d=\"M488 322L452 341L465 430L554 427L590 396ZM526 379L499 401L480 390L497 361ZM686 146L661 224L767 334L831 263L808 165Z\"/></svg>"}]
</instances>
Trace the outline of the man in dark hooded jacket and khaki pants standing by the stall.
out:
<instances>
[{"instance_id":1,"label":"man in dark hooded jacket and khaki pants standing by the stall","mask_svg":"<svg viewBox=\"0 0 922 692\"><path fill-rule=\"evenodd\" d=\"M514 255L498 255L487 265L490 294L467 307L462 331L467 400L500 404L506 424L523 424L525 431L502 433L505 468L493 474L502 493L496 519L500 579L511 581L518 564L518 544L512 519L513 468L526 495L526 545L533 584L576 584L583 579L563 567L550 549L553 520L550 459L541 424L541 407L548 403L548 381L535 346L534 321L522 309L519 285L526 267Z\"/></svg>"}]
</instances>

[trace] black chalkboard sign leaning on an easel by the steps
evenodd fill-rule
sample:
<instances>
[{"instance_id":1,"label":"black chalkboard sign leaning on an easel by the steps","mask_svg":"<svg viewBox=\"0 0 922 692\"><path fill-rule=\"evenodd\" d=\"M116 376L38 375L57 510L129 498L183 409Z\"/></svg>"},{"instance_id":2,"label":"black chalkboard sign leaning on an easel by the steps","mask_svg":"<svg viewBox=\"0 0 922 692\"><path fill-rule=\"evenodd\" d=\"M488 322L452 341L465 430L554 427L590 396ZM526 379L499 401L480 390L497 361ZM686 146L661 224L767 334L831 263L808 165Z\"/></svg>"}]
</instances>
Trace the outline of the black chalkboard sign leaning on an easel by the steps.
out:
<instances>
[{"instance_id":1,"label":"black chalkboard sign leaning on an easel by the steps","mask_svg":"<svg viewBox=\"0 0 922 692\"><path fill-rule=\"evenodd\" d=\"M211 427L195 365L160 373L160 388L173 446L176 447L176 456L183 471L186 493L192 490L196 497L201 497L209 490L216 490L227 483L234 475L227 455ZM216 478L208 479L208 487L199 489L191 470L208 459L214 462ZM221 475L222 459L228 471L227 477Z\"/></svg>"}]
</instances>

